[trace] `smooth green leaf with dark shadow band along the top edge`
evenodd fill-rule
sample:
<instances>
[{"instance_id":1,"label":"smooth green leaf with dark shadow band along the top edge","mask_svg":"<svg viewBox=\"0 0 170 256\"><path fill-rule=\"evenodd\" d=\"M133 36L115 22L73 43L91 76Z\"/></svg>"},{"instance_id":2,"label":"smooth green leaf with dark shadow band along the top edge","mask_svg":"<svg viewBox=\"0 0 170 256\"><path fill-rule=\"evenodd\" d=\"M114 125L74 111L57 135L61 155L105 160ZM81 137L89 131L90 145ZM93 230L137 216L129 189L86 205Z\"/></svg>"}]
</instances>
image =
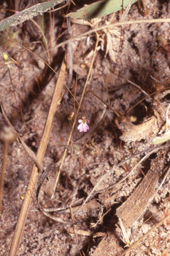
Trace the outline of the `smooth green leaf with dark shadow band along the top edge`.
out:
<instances>
[{"instance_id":1,"label":"smooth green leaf with dark shadow band along the top edge","mask_svg":"<svg viewBox=\"0 0 170 256\"><path fill-rule=\"evenodd\" d=\"M137 0L131 1L135 3ZM129 0L124 0L124 8L127 7ZM102 0L91 5L86 5L76 13L68 13L66 17L72 17L73 19L94 19L102 17L115 11L122 9L122 0Z\"/></svg>"}]
</instances>

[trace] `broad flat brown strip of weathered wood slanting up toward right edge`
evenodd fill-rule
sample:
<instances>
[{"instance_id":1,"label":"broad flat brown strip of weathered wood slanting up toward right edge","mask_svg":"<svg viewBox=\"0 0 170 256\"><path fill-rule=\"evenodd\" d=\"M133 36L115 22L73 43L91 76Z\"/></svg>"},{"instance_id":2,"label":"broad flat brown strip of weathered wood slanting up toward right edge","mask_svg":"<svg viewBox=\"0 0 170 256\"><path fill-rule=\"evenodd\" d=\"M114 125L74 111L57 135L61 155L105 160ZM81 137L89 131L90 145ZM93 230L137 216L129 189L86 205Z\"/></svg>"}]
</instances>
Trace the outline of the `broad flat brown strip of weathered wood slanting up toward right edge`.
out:
<instances>
[{"instance_id":1,"label":"broad flat brown strip of weathered wood slanting up toward right edge","mask_svg":"<svg viewBox=\"0 0 170 256\"><path fill-rule=\"evenodd\" d=\"M139 219L149 201L151 201L160 172L165 164L165 158L166 149L157 153L157 157L151 161L151 167L147 175L126 202L117 209L116 215L122 220L125 229L131 227Z\"/></svg>"}]
</instances>

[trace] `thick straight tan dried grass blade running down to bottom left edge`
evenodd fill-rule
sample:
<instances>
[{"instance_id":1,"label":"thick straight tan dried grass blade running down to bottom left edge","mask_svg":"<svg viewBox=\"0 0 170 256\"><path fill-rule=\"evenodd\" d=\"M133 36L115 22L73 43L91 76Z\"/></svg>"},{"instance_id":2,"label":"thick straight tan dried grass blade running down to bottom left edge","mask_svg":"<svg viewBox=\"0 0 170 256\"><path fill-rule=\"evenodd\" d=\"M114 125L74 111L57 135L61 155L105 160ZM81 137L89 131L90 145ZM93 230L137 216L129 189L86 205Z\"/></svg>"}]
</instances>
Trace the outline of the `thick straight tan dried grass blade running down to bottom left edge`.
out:
<instances>
[{"instance_id":1,"label":"thick straight tan dried grass blade running down to bottom left edge","mask_svg":"<svg viewBox=\"0 0 170 256\"><path fill-rule=\"evenodd\" d=\"M44 153L46 151L46 147L48 144L48 140L50 137L50 131L52 129L52 125L53 125L53 118L54 118L54 114L56 112L56 100L57 100L57 96L60 95L62 93L62 87L64 85L64 73L66 70L66 64L64 63L64 61L62 61L62 66L60 69L60 74L58 77L58 81L56 83L56 87L54 89L54 93L52 96L52 101L50 104L50 109L48 111L48 117L46 119L46 124L44 126L44 131L42 134L42 138L41 138L41 142L39 144L39 149L37 151L37 159L39 160L39 163L42 163L42 159L44 157ZM25 194L25 199L23 201L23 205L21 207L21 211L19 214L19 219L17 221L17 225L15 228L15 233L13 235L13 241L11 244L11 249L9 252L9 256L15 256L17 255L17 250L19 247L19 243L21 241L21 237L23 234L23 229L25 226L25 221L27 219L27 215L28 215L28 211L29 211L29 207L31 205L31 200L32 200L32 196L33 193L35 192L35 185L37 183L37 179L38 179L38 175L37 175L37 167L35 167L35 165L33 166L33 170L31 172L31 177L29 180L29 184L27 187L27 193Z\"/></svg>"}]
</instances>

